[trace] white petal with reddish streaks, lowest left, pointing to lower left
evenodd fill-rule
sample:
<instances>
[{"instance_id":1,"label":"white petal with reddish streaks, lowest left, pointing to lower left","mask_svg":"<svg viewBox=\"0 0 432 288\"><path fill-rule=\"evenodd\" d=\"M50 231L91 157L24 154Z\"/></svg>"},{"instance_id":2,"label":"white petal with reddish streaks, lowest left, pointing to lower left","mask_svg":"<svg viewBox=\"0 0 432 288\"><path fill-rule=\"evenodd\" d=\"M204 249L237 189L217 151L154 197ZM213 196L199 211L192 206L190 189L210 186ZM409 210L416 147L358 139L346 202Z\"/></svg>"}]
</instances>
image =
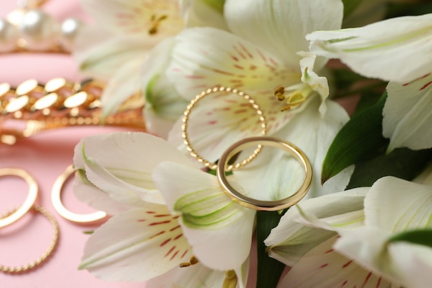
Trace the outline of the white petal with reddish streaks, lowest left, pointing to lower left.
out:
<instances>
[{"instance_id":1,"label":"white petal with reddish streaks, lowest left, pointing to lower left","mask_svg":"<svg viewBox=\"0 0 432 288\"><path fill-rule=\"evenodd\" d=\"M177 216L162 205L115 215L90 236L80 269L106 281L141 282L191 256Z\"/></svg>"}]
</instances>

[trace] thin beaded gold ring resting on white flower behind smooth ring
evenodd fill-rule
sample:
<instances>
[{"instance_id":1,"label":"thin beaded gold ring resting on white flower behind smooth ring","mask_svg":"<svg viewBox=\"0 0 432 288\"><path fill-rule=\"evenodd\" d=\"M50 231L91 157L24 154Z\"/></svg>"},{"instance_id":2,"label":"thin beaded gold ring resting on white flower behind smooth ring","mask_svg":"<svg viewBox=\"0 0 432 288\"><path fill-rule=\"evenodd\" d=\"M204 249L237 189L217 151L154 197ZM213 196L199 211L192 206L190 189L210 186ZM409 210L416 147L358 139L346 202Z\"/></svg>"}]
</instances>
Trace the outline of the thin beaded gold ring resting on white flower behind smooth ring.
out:
<instances>
[{"instance_id":1,"label":"thin beaded gold ring resting on white flower behind smooth ring","mask_svg":"<svg viewBox=\"0 0 432 288\"><path fill-rule=\"evenodd\" d=\"M190 140L188 137L188 119L190 115L190 111L194 108L194 106L201 100L202 98L206 97L207 95L218 93L218 92L225 92L225 93L234 93L237 94L244 99L248 101L249 104L251 104L252 108L255 109L258 117L259 122L261 123L261 134L264 136L267 133L267 123L266 119L264 118L264 115L262 113L261 108L259 108L258 104L255 102L254 99L251 98L251 96L247 95L246 93L239 91L237 89L233 89L230 87L214 87L214 88L208 88L207 90L202 91L202 93L199 93L195 98L190 102L190 104L186 107L186 111L184 111L184 116L182 118L183 124L181 125L181 137L183 137L183 143L186 145L186 149L189 151L190 155L194 157L198 162L202 163L204 166L215 170L217 168L217 164L208 162L203 157L201 157L197 151L191 146ZM238 169L240 166L244 166L251 162L253 158L256 157L256 155L261 151L262 146L258 145L258 147L253 151L249 157L247 157L242 162L238 162L237 164L230 164L226 167L226 171L231 171Z\"/></svg>"}]
</instances>

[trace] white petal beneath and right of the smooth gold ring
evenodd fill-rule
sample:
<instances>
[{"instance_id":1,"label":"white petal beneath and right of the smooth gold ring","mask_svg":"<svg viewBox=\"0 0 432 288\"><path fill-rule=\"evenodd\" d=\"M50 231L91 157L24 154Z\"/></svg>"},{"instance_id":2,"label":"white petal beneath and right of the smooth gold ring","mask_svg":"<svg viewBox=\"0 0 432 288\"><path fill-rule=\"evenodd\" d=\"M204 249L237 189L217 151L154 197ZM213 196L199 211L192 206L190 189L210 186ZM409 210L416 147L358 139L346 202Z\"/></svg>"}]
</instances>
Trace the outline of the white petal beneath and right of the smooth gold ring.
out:
<instances>
[{"instance_id":1,"label":"white petal beneath and right of the smooth gold ring","mask_svg":"<svg viewBox=\"0 0 432 288\"><path fill-rule=\"evenodd\" d=\"M348 115L339 104L327 100L327 112L322 117L318 112L320 106L318 97L302 105L304 110L293 115L290 122L272 136L295 144L311 162L313 180L305 199L342 191L348 184L352 169L344 171L324 187L321 185L320 175L328 146L348 121ZM268 191L266 199L277 200L288 197L300 188L304 180L304 169L297 160L277 148L268 147L268 152L263 149L260 154L262 155L258 155L250 164L235 171L239 183L246 191L251 191L251 195L255 196L262 194L260 191ZM244 157L244 153L239 157Z\"/></svg>"}]
</instances>

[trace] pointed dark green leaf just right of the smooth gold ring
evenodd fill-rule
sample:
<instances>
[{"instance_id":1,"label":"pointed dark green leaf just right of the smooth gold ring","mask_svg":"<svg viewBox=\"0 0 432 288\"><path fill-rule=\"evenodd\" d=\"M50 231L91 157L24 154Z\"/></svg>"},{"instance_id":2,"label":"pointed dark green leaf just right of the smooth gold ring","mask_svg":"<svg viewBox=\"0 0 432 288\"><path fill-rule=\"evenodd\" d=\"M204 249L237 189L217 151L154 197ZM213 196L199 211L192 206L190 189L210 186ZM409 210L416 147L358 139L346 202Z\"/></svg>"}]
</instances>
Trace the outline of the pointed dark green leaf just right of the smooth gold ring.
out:
<instances>
[{"instance_id":1,"label":"pointed dark green leaf just right of the smooth gold ring","mask_svg":"<svg viewBox=\"0 0 432 288\"><path fill-rule=\"evenodd\" d=\"M355 113L337 133L322 164L322 183L346 167L382 153L388 145L389 140L382 136L382 108L386 96L384 93L375 105Z\"/></svg>"}]
</instances>

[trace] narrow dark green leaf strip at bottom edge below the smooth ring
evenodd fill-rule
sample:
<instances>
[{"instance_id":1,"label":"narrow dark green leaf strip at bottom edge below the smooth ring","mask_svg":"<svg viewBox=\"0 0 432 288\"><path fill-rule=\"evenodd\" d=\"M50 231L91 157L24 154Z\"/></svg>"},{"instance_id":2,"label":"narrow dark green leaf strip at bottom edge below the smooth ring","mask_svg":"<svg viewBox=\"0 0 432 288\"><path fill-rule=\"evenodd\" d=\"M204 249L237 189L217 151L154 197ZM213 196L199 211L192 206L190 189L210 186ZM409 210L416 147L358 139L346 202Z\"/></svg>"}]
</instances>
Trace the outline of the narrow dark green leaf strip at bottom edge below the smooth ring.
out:
<instances>
[{"instance_id":1,"label":"narrow dark green leaf strip at bottom edge below the smooth ring","mask_svg":"<svg viewBox=\"0 0 432 288\"><path fill-rule=\"evenodd\" d=\"M257 286L256 288L275 288L285 269L285 265L268 257L264 240L271 229L279 223L283 213L278 211L257 211Z\"/></svg>"}]
</instances>

